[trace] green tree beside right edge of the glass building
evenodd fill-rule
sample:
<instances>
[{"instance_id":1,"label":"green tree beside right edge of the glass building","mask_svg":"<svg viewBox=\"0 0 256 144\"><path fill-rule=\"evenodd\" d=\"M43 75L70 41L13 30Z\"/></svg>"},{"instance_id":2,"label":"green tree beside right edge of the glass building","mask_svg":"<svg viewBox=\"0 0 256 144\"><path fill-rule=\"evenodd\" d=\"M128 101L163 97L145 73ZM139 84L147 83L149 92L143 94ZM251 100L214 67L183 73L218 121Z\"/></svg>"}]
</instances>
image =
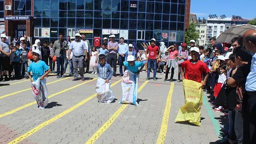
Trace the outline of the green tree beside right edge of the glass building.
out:
<instances>
[{"instance_id":1,"label":"green tree beside right edge of the glass building","mask_svg":"<svg viewBox=\"0 0 256 144\"><path fill-rule=\"evenodd\" d=\"M193 21L189 22L189 28L185 32L185 43L189 44L190 40L197 40L199 38L199 32L196 31L196 25Z\"/></svg>"}]
</instances>

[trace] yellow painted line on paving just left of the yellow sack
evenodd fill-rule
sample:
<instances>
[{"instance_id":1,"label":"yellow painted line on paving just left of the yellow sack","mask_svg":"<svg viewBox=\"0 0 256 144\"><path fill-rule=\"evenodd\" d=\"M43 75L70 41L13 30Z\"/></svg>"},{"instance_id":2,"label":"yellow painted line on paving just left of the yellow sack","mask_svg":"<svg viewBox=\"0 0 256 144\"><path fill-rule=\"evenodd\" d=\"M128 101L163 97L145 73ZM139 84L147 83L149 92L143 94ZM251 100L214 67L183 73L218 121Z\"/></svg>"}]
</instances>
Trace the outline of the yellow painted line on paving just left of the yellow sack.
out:
<instances>
[{"instance_id":1,"label":"yellow painted line on paving just left of the yellow sack","mask_svg":"<svg viewBox=\"0 0 256 144\"><path fill-rule=\"evenodd\" d=\"M165 142L168 121L169 121L169 115L170 115L170 109L171 109L171 98L172 98L173 88L174 88L174 83L171 83L170 91L168 93L167 100L166 100L165 112L163 113L161 129L160 129L156 144L164 144L164 142Z\"/></svg>"}]
</instances>

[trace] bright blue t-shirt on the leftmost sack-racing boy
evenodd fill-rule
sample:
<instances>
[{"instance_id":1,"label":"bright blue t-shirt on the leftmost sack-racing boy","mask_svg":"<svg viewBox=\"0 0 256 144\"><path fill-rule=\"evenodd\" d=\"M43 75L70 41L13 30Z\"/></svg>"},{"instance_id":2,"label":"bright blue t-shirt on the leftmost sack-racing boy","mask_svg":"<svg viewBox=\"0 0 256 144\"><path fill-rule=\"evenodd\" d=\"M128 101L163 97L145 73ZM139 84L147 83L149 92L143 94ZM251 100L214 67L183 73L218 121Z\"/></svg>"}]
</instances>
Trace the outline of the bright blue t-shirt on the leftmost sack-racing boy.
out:
<instances>
[{"instance_id":1,"label":"bright blue t-shirt on the leftmost sack-racing boy","mask_svg":"<svg viewBox=\"0 0 256 144\"><path fill-rule=\"evenodd\" d=\"M33 73L33 80L37 80L40 78L42 75L44 75L44 71L47 71L49 69L49 66L45 64L44 61L39 60L38 62L32 62L29 65L29 69L27 72Z\"/></svg>"}]
</instances>

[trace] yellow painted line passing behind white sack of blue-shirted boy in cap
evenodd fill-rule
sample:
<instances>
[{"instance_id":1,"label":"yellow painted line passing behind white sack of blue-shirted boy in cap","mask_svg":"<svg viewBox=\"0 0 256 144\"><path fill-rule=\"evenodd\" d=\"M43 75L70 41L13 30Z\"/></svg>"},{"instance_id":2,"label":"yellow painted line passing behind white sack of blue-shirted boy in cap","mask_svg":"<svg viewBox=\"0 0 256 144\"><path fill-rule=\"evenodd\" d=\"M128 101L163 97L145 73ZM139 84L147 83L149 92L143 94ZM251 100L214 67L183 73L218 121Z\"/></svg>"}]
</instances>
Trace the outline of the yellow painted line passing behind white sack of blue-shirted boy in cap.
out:
<instances>
[{"instance_id":1,"label":"yellow painted line passing behind white sack of blue-shirted boy in cap","mask_svg":"<svg viewBox=\"0 0 256 144\"><path fill-rule=\"evenodd\" d=\"M146 80L141 86L140 88L138 88L138 92L140 92L142 90L142 88L144 88L146 86L146 84L149 82L149 80ZM110 117L110 119L108 119L108 121L106 123L104 123L103 126L101 126L101 128L99 128L98 131L96 131L93 136L91 136L91 138L86 141L85 144L93 144L95 143L95 141L103 134L104 131L107 130L108 127L111 126L111 124L115 121L115 119L118 117L118 115L120 115L120 113L128 106L128 104L123 104L118 110L116 110L116 112Z\"/></svg>"}]
</instances>

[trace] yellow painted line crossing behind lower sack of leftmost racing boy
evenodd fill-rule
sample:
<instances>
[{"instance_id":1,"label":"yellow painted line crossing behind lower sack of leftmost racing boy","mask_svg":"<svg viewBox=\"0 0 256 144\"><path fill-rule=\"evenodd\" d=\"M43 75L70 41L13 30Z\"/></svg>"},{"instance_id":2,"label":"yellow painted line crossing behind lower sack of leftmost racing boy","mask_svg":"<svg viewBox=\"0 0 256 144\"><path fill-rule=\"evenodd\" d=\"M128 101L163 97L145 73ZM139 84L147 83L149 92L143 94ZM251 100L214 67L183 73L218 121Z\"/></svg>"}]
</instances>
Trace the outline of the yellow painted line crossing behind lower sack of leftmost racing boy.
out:
<instances>
[{"instance_id":1,"label":"yellow painted line crossing behind lower sack of leftmost racing boy","mask_svg":"<svg viewBox=\"0 0 256 144\"><path fill-rule=\"evenodd\" d=\"M48 99L51 98L51 97L53 97L53 96L59 95L59 94L61 94L61 93L63 93L63 92L72 90L72 89L74 89L74 88L76 88L76 87L82 86L83 84L92 82L92 81L95 80L95 79L97 79L97 78L94 78L94 79L88 80L88 81L86 81L86 82L77 84L76 86L67 88L67 89L65 89L65 90L63 90L63 91L60 91L60 92L56 92L56 93L54 93L54 94L51 94L50 96L48 96ZM30 88L29 90L31 90L31 88ZM0 118L1 118L1 117L4 117L5 115L9 115L9 114L15 113L15 112L17 112L17 111L19 111L19 110L21 110L21 109L24 109L24 108L26 108L26 107L28 107L28 106L30 106L30 105L34 105L34 104L37 104L37 102L36 102L36 101L33 101L33 102L30 102L29 104L20 106L20 107L18 107L18 108L16 108L16 109L13 109L13 110L10 110L9 112L0 114Z\"/></svg>"}]
</instances>

